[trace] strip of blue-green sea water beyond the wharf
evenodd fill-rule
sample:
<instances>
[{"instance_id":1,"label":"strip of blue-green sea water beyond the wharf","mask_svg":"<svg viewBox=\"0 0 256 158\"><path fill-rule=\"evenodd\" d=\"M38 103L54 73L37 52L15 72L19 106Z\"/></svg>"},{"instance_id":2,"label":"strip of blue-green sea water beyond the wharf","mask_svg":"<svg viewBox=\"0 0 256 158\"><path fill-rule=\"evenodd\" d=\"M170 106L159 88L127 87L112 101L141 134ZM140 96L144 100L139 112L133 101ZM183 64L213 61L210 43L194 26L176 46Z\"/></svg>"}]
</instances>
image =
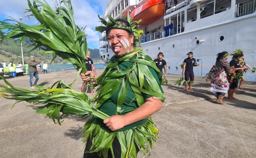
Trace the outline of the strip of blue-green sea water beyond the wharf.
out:
<instances>
[{"instance_id":1,"label":"strip of blue-green sea water beyond the wharf","mask_svg":"<svg viewBox=\"0 0 256 158\"><path fill-rule=\"evenodd\" d=\"M93 64L96 69L106 68L104 66L104 63L94 63ZM72 64L55 64L55 65L49 65L48 64L48 71L60 71L60 70L75 70L74 66ZM43 70L43 64L41 65L41 70Z\"/></svg>"}]
</instances>

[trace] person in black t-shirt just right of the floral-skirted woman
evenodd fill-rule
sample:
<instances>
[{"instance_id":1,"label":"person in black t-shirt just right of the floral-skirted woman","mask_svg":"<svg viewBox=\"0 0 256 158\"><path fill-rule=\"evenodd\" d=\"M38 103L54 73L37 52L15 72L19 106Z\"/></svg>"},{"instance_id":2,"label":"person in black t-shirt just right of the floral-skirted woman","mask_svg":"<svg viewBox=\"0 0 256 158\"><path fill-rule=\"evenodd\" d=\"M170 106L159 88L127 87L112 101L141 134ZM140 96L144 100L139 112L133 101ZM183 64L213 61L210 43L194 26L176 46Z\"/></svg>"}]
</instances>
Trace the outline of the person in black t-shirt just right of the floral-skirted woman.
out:
<instances>
[{"instance_id":1,"label":"person in black t-shirt just right of the floral-skirted woman","mask_svg":"<svg viewBox=\"0 0 256 158\"><path fill-rule=\"evenodd\" d=\"M244 57L244 54L239 54L235 57L235 59L232 59L230 61L230 66L235 67L236 73L239 73L241 70L244 70L244 67L241 67L239 64L239 61L241 61ZM238 87L238 80L233 80L233 82L230 85L230 89L228 90L228 100L236 101L237 98L234 97L234 93L236 91L236 88Z\"/></svg>"}]
</instances>

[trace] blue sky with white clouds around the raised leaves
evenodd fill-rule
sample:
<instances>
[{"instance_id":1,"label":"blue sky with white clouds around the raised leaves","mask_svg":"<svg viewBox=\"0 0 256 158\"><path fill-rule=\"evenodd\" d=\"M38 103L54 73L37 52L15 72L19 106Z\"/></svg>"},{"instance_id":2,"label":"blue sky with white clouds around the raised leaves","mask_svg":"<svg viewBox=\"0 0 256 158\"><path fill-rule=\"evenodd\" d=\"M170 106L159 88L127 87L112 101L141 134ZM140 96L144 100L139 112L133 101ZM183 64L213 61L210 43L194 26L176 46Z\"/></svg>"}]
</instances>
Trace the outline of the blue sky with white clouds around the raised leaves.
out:
<instances>
[{"instance_id":1,"label":"blue sky with white clouds around the raised leaves","mask_svg":"<svg viewBox=\"0 0 256 158\"><path fill-rule=\"evenodd\" d=\"M44 2L43 0L41 0ZM45 0L50 6L53 6L53 1L55 0ZM59 0L57 0L59 1ZM32 3L32 0L30 0ZM103 17L103 12L107 0L71 0L74 19L76 25L79 28L87 26L84 30L87 36L88 48L99 49L99 32L95 31L95 27L100 25L98 14ZM10 19L9 17L19 20L20 17L24 17L21 21L29 25L34 25L37 23L35 18L29 20L23 13L23 8L29 8L27 0L0 0L0 20ZM9 17L8 17L9 16Z\"/></svg>"}]
</instances>

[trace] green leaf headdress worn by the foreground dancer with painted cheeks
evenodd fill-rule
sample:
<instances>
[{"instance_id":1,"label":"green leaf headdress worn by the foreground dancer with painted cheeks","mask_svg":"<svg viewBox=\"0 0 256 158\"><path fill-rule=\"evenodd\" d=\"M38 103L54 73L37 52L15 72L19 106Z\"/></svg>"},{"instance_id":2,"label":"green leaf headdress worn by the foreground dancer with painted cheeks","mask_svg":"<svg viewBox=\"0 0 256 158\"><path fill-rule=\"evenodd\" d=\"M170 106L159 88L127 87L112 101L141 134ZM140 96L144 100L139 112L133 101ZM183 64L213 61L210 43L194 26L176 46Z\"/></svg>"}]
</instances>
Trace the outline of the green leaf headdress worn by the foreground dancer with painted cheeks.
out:
<instances>
[{"instance_id":1,"label":"green leaf headdress worn by the foreground dancer with painted cheeks","mask_svg":"<svg viewBox=\"0 0 256 158\"><path fill-rule=\"evenodd\" d=\"M98 15L98 17L99 17L99 15ZM108 31L111 28L117 28L117 29L122 29L122 30L128 31L129 33L134 34L134 48L140 46L141 34L143 34L143 30L136 29L136 28L138 27L141 20L132 21L133 18L130 18L129 13L128 13L127 17L124 19L122 16L122 12L121 12L120 19L128 21L128 23L130 24L130 27L129 27L129 26L122 25L122 23L120 23L120 22L116 22L116 20L114 20L113 17L111 17L110 15L108 15L108 18L109 18L109 22L107 22L104 18L99 17L100 22L105 26L96 26L95 30L99 31L101 33L106 31L106 34L108 34Z\"/></svg>"}]
</instances>

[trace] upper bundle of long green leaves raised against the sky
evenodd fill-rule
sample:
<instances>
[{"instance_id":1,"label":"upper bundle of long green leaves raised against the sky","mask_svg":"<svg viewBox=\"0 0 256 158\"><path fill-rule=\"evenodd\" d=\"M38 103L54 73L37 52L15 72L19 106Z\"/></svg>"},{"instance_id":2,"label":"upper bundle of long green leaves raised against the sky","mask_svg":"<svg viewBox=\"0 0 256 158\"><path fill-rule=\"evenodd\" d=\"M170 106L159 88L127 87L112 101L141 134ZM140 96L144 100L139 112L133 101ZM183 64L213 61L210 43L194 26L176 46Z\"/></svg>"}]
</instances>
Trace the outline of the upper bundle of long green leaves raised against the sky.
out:
<instances>
[{"instance_id":1,"label":"upper bundle of long green leaves raised against the sky","mask_svg":"<svg viewBox=\"0 0 256 158\"><path fill-rule=\"evenodd\" d=\"M64 6L61 6L64 4ZM87 56L87 41L84 28L79 28L73 18L73 7L70 0L60 0L53 10L46 2L33 0L33 4L28 0L29 9L39 24L26 25L17 20L0 21L0 30L3 32L1 41L8 38L20 40L22 42L29 38L35 49L40 49L41 53L53 54L52 61L56 56L77 66L78 70L85 73L85 57ZM11 21L15 24L7 23Z\"/></svg>"}]
</instances>

